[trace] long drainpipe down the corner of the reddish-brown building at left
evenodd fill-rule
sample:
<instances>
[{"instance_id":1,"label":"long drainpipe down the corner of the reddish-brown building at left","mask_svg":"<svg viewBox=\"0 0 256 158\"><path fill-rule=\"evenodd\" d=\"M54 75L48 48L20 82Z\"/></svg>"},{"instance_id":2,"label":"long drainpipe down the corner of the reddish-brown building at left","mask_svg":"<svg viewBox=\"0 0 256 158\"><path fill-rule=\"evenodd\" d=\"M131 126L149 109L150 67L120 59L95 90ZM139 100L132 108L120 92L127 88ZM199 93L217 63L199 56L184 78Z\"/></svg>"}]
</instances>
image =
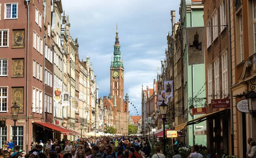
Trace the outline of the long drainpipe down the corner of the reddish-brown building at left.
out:
<instances>
[{"instance_id":1,"label":"long drainpipe down the corner of the reddish-brown building at left","mask_svg":"<svg viewBox=\"0 0 256 158\"><path fill-rule=\"evenodd\" d=\"M29 1L26 1L26 6L27 6L27 54L26 54L26 152L29 150Z\"/></svg>"}]
</instances>

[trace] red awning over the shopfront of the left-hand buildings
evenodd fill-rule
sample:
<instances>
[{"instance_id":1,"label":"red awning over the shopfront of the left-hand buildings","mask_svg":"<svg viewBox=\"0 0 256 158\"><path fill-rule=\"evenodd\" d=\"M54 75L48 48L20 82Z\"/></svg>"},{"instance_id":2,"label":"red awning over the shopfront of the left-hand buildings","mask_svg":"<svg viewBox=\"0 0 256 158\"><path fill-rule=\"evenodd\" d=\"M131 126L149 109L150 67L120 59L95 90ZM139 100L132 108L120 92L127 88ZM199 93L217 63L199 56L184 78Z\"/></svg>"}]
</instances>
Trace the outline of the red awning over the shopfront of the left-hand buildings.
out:
<instances>
[{"instance_id":1,"label":"red awning over the shopfront of the left-hand buildings","mask_svg":"<svg viewBox=\"0 0 256 158\"><path fill-rule=\"evenodd\" d=\"M42 122L34 122L35 124L44 127L44 128L49 128L53 131L58 131L60 133L63 133L63 135L77 135L76 132L71 131L71 130L67 130L66 128L57 126L55 124L49 124L49 123L42 123Z\"/></svg>"}]
</instances>

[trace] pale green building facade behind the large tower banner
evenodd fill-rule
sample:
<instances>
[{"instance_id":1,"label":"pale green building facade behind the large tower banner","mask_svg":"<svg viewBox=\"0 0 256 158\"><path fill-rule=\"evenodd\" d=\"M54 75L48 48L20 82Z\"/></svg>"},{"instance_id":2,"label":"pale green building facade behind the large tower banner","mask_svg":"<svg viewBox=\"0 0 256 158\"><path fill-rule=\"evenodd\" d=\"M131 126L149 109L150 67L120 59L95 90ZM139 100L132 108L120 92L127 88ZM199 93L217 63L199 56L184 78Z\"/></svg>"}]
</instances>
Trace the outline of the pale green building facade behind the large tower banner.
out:
<instances>
[{"instance_id":1,"label":"pale green building facade behind the large tower banner","mask_svg":"<svg viewBox=\"0 0 256 158\"><path fill-rule=\"evenodd\" d=\"M199 27L204 26L204 5L201 2L192 2L192 0L181 0L180 4L180 25L182 28L183 36L183 78L184 78L184 107L187 111L184 115L184 122L191 121L193 116L189 115L189 101L192 98L205 98L205 65L188 65L188 46L186 44L186 27ZM194 70L192 70L194 69ZM193 73L192 73L193 72ZM194 86L193 86L194 85ZM206 100L203 100L203 104ZM197 118L201 115L195 115ZM195 135L195 131L200 128L206 127L206 121L198 124L189 125L185 127L187 146L194 144L207 144L206 135ZM194 128L194 130L193 130ZM193 135L195 135L195 142L193 142Z\"/></svg>"}]
</instances>

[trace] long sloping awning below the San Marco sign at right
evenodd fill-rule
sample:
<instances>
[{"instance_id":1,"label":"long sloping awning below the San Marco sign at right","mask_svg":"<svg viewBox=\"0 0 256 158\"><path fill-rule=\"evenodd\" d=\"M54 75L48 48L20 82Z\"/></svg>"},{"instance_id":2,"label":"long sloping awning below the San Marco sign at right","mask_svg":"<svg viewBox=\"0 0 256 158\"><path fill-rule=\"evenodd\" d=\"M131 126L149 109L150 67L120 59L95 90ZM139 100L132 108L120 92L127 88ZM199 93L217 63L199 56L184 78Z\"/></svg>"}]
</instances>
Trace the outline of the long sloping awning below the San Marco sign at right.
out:
<instances>
[{"instance_id":1,"label":"long sloping awning below the San Marco sign at right","mask_svg":"<svg viewBox=\"0 0 256 158\"><path fill-rule=\"evenodd\" d=\"M191 121L188 121L188 122L185 122L183 124L180 124L180 125L176 126L175 130L182 130L185 126L192 125L192 124L198 124L200 122L203 122L203 121L207 120L207 118L210 118L212 116L219 115L221 113L227 113L229 110L230 109L223 109L223 110L219 110L219 111L216 111L216 112L213 112L213 113L207 113L207 114L199 116L198 118L195 118Z\"/></svg>"}]
</instances>

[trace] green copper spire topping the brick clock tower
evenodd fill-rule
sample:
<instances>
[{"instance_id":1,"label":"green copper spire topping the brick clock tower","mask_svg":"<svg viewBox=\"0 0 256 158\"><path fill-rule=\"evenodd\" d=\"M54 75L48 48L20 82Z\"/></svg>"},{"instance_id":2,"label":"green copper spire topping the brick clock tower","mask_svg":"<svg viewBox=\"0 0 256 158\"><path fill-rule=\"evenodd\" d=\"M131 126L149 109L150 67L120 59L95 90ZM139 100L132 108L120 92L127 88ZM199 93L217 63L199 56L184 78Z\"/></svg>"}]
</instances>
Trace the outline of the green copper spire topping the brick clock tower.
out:
<instances>
[{"instance_id":1,"label":"green copper spire topping the brick clock tower","mask_svg":"<svg viewBox=\"0 0 256 158\"><path fill-rule=\"evenodd\" d=\"M124 67L121 61L121 51L120 51L118 29L117 29L117 23L116 23L116 42L114 45L114 57L113 57L113 61L111 61L111 67L119 68L119 66L121 66L122 68Z\"/></svg>"}]
</instances>

